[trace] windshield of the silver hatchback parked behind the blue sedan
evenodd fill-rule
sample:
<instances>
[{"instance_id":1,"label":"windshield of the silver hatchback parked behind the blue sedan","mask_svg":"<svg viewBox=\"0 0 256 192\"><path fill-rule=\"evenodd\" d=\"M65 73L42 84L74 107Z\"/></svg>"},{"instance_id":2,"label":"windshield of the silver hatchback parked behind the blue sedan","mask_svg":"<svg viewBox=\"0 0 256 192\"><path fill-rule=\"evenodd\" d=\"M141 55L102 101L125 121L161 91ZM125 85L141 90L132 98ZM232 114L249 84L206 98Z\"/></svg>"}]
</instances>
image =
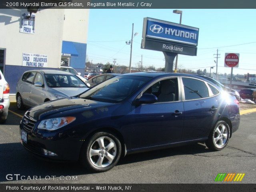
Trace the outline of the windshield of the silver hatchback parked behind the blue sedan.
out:
<instances>
[{"instance_id":1,"label":"windshield of the silver hatchback parked behind the blue sedan","mask_svg":"<svg viewBox=\"0 0 256 192\"><path fill-rule=\"evenodd\" d=\"M86 85L80 78L75 75L68 74L45 74L45 79L48 87L81 87L86 88Z\"/></svg>"}]
</instances>

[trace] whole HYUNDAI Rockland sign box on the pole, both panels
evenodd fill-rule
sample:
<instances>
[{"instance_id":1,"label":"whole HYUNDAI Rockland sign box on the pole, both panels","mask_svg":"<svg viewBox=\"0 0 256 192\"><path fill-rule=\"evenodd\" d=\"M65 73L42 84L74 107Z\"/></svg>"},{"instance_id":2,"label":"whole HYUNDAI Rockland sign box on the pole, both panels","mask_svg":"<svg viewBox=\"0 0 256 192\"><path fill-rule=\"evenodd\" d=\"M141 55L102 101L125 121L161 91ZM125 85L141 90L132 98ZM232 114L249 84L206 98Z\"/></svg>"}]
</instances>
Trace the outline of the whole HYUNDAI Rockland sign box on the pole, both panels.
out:
<instances>
[{"instance_id":1,"label":"whole HYUNDAI Rockland sign box on the pole, both panels","mask_svg":"<svg viewBox=\"0 0 256 192\"><path fill-rule=\"evenodd\" d=\"M195 27L144 18L141 48L195 56L198 32Z\"/></svg>"}]
</instances>

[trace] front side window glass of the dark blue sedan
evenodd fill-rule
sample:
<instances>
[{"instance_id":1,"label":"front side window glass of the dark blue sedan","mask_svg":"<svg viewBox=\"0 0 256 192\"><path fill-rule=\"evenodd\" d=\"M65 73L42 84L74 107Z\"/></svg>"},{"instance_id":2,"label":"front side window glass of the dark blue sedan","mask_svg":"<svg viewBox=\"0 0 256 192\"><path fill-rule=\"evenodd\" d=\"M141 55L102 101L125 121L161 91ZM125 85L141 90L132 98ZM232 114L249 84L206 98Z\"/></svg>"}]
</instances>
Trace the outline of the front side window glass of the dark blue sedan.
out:
<instances>
[{"instance_id":1,"label":"front side window glass of the dark blue sedan","mask_svg":"<svg viewBox=\"0 0 256 192\"><path fill-rule=\"evenodd\" d=\"M172 102L178 100L178 79L170 78L156 82L143 94L154 94L157 102Z\"/></svg>"}]
</instances>

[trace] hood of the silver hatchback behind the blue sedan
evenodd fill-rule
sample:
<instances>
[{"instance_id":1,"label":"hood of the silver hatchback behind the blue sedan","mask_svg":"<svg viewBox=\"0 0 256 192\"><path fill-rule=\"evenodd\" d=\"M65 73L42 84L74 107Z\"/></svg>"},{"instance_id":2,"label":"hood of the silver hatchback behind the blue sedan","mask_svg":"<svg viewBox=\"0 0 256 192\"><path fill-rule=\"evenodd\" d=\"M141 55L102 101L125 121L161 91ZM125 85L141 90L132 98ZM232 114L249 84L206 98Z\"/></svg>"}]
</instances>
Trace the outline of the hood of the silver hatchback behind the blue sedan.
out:
<instances>
[{"instance_id":1,"label":"hood of the silver hatchback behind the blue sedan","mask_svg":"<svg viewBox=\"0 0 256 192\"><path fill-rule=\"evenodd\" d=\"M61 96L72 97L75 95L79 95L82 92L85 92L89 88L79 88L79 87L58 87L51 88L54 90L55 94L60 94Z\"/></svg>"}]
</instances>

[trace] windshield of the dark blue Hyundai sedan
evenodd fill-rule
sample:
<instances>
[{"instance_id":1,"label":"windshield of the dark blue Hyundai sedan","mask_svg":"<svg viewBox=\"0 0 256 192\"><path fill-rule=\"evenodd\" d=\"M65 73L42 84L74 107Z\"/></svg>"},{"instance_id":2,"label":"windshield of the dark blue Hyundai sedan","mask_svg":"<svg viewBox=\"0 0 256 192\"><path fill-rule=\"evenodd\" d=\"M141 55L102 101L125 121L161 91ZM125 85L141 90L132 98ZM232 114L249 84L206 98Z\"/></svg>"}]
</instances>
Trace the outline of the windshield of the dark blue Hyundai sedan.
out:
<instances>
[{"instance_id":1,"label":"windshield of the dark blue Hyundai sedan","mask_svg":"<svg viewBox=\"0 0 256 192\"><path fill-rule=\"evenodd\" d=\"M150 77L116 76L80 95L80 98L118 103L138 90Z\"/></svg>"}]
</instances>

